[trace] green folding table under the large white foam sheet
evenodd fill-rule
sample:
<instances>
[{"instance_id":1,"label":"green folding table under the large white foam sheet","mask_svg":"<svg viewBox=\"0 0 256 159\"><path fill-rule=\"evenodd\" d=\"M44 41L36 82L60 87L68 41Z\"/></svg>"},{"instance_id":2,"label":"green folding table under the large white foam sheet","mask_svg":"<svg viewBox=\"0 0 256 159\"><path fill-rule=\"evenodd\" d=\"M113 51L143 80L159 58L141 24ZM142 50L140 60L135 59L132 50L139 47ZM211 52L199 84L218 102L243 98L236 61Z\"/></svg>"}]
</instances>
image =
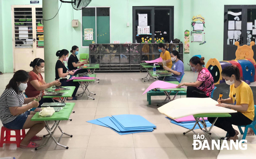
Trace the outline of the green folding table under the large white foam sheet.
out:
<instances>
[{"instance_id":1,"label":"green folding table under the large white foam sheet","mask_svg":"<svg viewBox=\"0 0 256 159\"><path fill-rule=\"evenodd\" d=\"M188 130L187 132L183 132L183 135L185 135L186 133L191 132L191 131L194 132L195 135L197 135L197 133L195 133L195 131L194 131L194 128L195 128L196 125L198 125L199 128L206 134L204 139L209 137L211 140L212 140L212 138L210 136L211 135L211 129L213 128L213 125L216 122L216 120L218 119L218 117L231 117L231 115L229 113L204 113L204 114L196 114L196 115L193 115L193 116L195 118L194 127L192 129ZM209 130L207 130L207 128L206 128L207 126L206 126L206 123L205 123L205 120L204 120L205 117L214 117L215 118L214 121L213 121L213 124L211 125ZM202 121L200 120L200 118L202 118ZM202 127L200 126L199 123L201 123L203 125L204 129L202 129ZM201 140L201 141L203 141L203 140Z\"/></svg>"}]
</instances>

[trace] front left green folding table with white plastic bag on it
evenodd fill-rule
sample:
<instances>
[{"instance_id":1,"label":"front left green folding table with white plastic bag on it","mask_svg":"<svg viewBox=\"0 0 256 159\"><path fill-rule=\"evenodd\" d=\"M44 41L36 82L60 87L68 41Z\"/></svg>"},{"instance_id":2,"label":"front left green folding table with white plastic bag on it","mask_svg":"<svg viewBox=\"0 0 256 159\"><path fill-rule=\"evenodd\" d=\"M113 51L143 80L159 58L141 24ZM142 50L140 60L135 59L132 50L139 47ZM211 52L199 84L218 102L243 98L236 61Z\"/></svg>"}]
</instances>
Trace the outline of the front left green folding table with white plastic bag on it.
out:
<instances>
[{"instance_id":1,"label":"front left green folding table with white plastic bag on it","mask_svg":"<svg viewBox=\"0 0 256 159\"><path fill-rule=\"evenodd\" d=\"M45 147L49 143L50 138L52 138L57 145L59 145L61 147L64 147L66 149L69 148L65 145L60 144L60 141L61 141L61 138L62 138L63 134L65 134L69 137L73 137L73 135L69 135L69 134L63 132L61 127L60 127L60 123L61 123L62 120L68 120L69 119L69 116L70 116L70 114L71 114L71 112L74 108L74 104L75 103L66 103L66 106L64 106L59 112L55 112L51 117L40 116L39 112L37 112L31 118L31 121L44 121L45 124L46 124L45 129L47 130L48 134L43 135L43 137L46 137L46 136L50 135L49 138L46 140L45 144L41 145L40 147L35 148L35 150L38 150L42 147ZM51 128L48 125L48 121L54 121L55 122L54 125ZM59 138L58 141L53 136L55 131L57 130L57 128L59 128L59 130L61 131L61 137Z\"/></svg>"}]
</instances>

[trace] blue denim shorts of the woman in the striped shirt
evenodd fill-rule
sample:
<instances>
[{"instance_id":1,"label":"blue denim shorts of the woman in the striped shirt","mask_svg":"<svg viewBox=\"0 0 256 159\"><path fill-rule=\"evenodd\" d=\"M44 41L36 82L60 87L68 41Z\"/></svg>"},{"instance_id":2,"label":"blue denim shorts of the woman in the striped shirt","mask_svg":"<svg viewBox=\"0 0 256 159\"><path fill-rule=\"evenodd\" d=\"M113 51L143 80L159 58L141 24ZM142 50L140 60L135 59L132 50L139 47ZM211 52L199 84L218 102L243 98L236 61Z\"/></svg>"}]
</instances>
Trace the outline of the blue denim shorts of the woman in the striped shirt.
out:
<instances>
[{"instance_id":1,"label":"blue denim shorts of the woman in the striped shirt","mask_svg":"<svg viewBox=\"0 0 256 159\"><path fill-rule=\"evenodd\" d=\"M30 111L26 111L24 114L17 116L14 120L10 121L9 123L3 124L3 126L9 129L21 130L29 114Z\"/></svg>"}]
</instances>

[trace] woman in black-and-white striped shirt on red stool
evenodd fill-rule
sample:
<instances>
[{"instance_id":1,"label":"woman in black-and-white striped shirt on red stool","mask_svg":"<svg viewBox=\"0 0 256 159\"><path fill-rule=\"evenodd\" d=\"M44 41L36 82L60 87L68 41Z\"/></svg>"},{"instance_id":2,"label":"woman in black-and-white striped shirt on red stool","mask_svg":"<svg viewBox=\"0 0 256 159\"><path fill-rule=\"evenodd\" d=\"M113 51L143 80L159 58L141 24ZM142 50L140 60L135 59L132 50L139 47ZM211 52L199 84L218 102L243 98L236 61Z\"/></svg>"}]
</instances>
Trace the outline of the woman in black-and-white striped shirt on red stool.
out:
<instances>
[{"instance_id":1,"label":"woman in black-and-white striped shirt on red stool","mask_svg":"<svg viewBox=\"0 0 256 159\"><path fill-rule=\"evenodd\" d=\"M29 75L24 70L18 70L13 75L0 97L0 119L3 126L9 129L29 129L21 141L21 148L36 148L38 144L33 140L42 140L42 137L35 136L45 127L44 121L31 121L34 112L28 111L38 107L35 98L24 98L22 91L27 87ZM31 104L28 104L32 102ZM27 104L22 106L23 104Z\"/></svg>"}]
</instances>

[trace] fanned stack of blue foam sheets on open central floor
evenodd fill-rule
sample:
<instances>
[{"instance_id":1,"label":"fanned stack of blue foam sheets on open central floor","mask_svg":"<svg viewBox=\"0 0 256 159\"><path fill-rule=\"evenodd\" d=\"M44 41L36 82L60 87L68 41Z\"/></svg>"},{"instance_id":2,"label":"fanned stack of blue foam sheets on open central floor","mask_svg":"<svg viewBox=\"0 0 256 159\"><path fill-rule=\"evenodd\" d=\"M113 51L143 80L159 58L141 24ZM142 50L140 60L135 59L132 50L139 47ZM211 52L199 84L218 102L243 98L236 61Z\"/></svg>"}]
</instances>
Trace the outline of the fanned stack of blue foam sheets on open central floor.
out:
<instances>
[{"instance_id":1,"label":"fanned stack of blue foam sheets on open central floor","mask_svg":"<svg viewBox=\"0 0 256 159\"><path fill-rule=\"evenodd\" d=\"M140 115L113 115L86 122L111 128L120 135L152 132L156 128L156 125Z\"/></svg>"}]
</instances>

